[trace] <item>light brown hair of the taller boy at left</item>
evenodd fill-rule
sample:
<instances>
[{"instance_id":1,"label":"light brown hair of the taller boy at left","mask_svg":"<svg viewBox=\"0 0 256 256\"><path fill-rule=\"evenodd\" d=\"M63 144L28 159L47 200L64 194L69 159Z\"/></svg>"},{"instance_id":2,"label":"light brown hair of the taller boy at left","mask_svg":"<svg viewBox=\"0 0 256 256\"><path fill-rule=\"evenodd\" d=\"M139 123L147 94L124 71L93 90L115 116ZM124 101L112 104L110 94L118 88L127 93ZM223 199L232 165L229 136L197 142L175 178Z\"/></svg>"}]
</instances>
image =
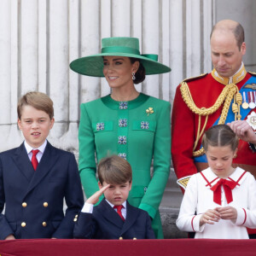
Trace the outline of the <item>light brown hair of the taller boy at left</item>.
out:
<instances>
[{"instance_id":1,"label":"light brown hair of the taller boy at left","mask_svg":"<svg viewBox=\"0 0 256 256\"><path fill-rule=\"evenodd\" d=\"M19 119L21 119L22 108L24 106L32 106L33 108L44 111L49 115L49 119L53 119L54 117L53 102L49 96L43 92L30 91L20 98L17 106Z\"/></svg>"}]
</instances>

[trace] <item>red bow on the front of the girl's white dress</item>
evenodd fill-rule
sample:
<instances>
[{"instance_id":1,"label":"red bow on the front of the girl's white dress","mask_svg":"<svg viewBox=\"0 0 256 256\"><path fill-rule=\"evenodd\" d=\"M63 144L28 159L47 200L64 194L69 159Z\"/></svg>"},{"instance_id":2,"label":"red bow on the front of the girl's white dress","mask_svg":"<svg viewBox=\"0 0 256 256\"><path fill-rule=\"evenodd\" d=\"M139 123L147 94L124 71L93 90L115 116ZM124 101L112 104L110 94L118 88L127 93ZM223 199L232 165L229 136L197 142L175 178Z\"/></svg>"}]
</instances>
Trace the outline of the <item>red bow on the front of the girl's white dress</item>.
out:
<instances>
[{"instance_id":1,"label":"red bow on the front of the girl's white dress","mask_svg":"<svg viewBox=\"0 0 256 256\"><path fill-rule=\"evenodd\" d=\"M227 199L228 204L233 201L232 189L236 187L235 181L229 181L224 178L220 178L218 183L212 186L213 191L213 201L221 206L221 185L223 185L224 193Z\"/></svg>"}]
</instances>

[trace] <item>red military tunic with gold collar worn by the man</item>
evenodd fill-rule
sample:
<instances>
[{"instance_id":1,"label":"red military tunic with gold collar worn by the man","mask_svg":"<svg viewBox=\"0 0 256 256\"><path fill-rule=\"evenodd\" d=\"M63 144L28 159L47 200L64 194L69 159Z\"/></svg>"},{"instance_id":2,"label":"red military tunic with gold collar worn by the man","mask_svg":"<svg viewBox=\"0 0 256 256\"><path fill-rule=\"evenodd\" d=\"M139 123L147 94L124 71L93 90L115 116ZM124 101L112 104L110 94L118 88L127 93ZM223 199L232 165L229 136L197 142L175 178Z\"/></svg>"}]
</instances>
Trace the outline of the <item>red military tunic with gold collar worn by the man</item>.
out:
<instances>
[{"instance_id":1,"label":"red military tunic with gold collar worn by the man","mask_svg":"<svg viewBox=\"0 0 256 256\"><path fill-rule=\"evenodd\" d=\"M218 73L213 70L212 73L202 75L195 79L187 79L185 81L189 86L189 91L195 102L195 106L198 108L210 108L214 105L222 90L224 90L225 84L234 83L237 85L238 89L241 90L241 87L246 84L247 81L250 81L249 79L252 77L252 74L247 73L244 67L241 66L240 71L236 73L231 80L219 77ZM206 158L205 154L198 160L195 160L193 157L193 147L197 135L199 115L193 113L183 101L180 87L181 84L177 87L172 108L172 162L178 179L189 177L196 172L201 172L208 166L206 160L201 160L202 157ZM252 86L250 88L252 88ZM216 121L221 115L223 106L224 104L222 104L215 113L208 116L207 125L204 131L207 131L207 129L214 125L214 123L216 124ZM248 113L251 113L252 111L253 109L247 110ZM201 116L201 128L205 124L205 120L206 117ZM235 114L231 113L230 119L227 119L225 123L233 120L235 120ZM201 138L195 150L201 148ZM234 166L240 166L247 172L254 172L255 176L256 154L253 154L248 143L240 140L237 157L233 160L233 163ZM188 180L189 178L183 183L183 188L185 188Z\"/></svg>"}]
</instances>

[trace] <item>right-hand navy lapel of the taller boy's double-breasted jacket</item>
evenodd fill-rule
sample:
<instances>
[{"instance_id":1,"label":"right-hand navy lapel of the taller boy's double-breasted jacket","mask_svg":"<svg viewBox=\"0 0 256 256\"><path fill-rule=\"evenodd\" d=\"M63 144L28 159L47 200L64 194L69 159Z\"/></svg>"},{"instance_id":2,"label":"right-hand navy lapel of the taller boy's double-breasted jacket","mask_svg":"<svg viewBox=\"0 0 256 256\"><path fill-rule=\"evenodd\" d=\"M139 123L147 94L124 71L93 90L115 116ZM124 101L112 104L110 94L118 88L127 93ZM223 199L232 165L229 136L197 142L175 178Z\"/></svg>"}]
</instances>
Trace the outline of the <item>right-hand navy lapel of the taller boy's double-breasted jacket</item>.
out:
<instances>
[{"instance_id":1,"label":"right-hand navy lapel of the taller boy's double-breasted jacket","mask_svg":"<svg viewBox=\"0 0 256 256\"><path fill-rule=\"evenodd\" d=\"M26 195L32 189L34 189L38 183L40 183L40 181L49 173L56 160L58 160L58 154L55 148L49 142L47 142L42 159L40 160L38 168L35 171L34 176L32 177L32 180L26 190Z\"/></svg>"}]
</instances>

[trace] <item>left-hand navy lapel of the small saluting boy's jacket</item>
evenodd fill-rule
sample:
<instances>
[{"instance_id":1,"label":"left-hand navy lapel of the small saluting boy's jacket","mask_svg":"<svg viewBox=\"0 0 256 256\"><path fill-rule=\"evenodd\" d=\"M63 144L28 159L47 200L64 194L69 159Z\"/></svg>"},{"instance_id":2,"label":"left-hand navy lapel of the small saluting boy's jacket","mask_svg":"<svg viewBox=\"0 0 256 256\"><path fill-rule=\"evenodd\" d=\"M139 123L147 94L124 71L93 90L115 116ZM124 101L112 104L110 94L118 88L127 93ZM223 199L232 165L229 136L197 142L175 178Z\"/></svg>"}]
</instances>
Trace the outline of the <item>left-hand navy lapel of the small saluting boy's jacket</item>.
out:
<instances>
[{"instance_id":1,"label":"left-hand navy lapel of the small saluting boy's jacket","mask_svg":"<svg viewBox=\"0 0 256 256\"><path fill-rule=\"evenodd\" d=\"M108 204L108 201L102 199L98 206L99 210L102 211L102 216L107 218L109 222L121 229L124 225L124 221L119 217L119 214L113 210L113 208Z\"/></svg>"}]
</instances>

